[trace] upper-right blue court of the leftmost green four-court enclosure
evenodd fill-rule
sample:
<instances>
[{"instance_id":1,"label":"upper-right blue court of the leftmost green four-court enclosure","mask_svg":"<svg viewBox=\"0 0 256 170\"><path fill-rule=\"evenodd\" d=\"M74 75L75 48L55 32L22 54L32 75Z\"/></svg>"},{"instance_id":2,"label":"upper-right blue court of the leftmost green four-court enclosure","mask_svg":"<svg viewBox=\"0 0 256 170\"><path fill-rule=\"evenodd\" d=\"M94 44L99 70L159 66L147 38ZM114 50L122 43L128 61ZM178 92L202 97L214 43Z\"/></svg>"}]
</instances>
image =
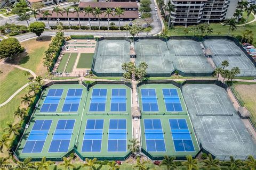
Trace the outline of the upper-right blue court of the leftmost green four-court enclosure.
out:
<instances>
[{"instance_id":1,"label":"upper-right blue court of the leftmost green four-court enclosure","mask_svg":"<svg viewBox=\"0 0 256 170\"><path fill-rule=\"evenodd\" d=\"M68 89L62 112L77 112L83 89Z\"/></svg>"}]
</instances>

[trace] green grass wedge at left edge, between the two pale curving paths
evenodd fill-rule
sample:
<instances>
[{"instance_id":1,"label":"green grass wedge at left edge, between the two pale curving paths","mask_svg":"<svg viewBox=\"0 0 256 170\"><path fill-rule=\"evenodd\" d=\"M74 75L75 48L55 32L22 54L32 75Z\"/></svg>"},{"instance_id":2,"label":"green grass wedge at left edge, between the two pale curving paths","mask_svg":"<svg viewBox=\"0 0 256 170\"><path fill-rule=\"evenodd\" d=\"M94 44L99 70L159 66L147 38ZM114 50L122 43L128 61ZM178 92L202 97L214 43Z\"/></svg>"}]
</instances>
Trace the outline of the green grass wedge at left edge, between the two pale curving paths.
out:
<instances>
[{"instance_id":1,"label":"green grass wedge at left edge, between the two pale curving paths","mask_svg":"<svg viewBox=\"0 0 256 170\"><path fill-rule=\"evenodd\" d=\"M3 103L15 91L24 86L28 82L28 78L24 75L25 71L10 65L0 65L0 70L3 72L0 74L0 103Z\"/></svg>"}]
</instances>

